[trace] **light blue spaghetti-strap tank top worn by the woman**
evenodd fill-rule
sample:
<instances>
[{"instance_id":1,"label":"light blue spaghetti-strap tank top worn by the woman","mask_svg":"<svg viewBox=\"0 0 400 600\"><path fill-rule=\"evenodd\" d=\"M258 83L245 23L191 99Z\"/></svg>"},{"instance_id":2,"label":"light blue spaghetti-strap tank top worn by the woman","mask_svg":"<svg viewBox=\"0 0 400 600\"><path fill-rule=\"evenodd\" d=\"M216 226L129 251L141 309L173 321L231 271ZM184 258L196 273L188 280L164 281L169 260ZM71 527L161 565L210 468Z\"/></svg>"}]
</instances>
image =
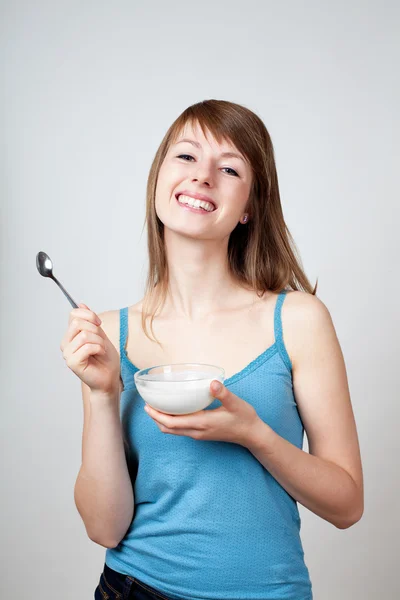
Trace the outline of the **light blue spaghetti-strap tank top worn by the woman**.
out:
<instances>
[{"instance_id":1,"label":"light blue spaghetti-strap tank top worn by the woman","mask_svg":"<svg viewBox=\"0 0 400 600\"><path fill-rule=\"evenodd\" d=\"M302 449L277 296L275 341L225 386ZM244 446L165 434L144 411L120 310L120 411L135 513L106 564L176 600L312 600L297 502ZM221 406L215 399L205 410Z\"/></svg>"}]
</instances>

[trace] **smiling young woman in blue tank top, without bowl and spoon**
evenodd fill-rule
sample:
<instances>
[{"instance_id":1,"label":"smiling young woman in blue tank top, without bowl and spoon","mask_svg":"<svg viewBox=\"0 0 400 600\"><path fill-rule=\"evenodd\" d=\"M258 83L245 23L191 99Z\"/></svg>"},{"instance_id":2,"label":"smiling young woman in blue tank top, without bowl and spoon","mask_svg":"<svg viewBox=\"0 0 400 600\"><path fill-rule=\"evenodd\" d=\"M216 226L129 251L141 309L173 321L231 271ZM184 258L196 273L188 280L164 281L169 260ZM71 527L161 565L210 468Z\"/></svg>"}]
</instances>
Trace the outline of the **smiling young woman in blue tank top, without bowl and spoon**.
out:
<instances>
[{"instance_id":1,"label":"smiling young woman in blue tank top, without bowl and spoon","mask_svg":"<svg viewBox=\"0 0 400 600\"><path fill-rule=\"evenodd\" d=\"M341 348L260 118L218 100L185 110L151 166L146 222L143 300L100 319L80 305L61 343L84 402L75 501L107 548L95 598L310 600L297 503L352 526L362 465ZM225 369L213 403L147 407L134 373L182 362Z\"/></svg>"}]
</instances>

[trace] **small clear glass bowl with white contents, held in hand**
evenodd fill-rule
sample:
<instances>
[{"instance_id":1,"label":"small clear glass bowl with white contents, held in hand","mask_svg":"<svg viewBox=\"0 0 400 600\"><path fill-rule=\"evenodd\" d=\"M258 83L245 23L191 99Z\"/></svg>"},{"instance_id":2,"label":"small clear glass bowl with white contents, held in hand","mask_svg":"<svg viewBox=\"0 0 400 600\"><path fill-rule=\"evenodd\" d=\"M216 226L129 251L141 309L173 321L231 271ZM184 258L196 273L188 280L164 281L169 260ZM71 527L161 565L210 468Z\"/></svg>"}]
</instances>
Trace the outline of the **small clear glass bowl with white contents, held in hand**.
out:
<instances>
[{"instance_id":1,"label":"small clear glass bowl with white contents, held in hand","mask_svg":"<svg viewBox=\"0 0 400 600\"><path fill-rule=\"evenodd\" d=\"M134 378L147 404L170 415L188 415L214 401L210 384L214 379L223 383L225 371L215 365L180 363L142 369Z\"/></svg>"}]
</instances>

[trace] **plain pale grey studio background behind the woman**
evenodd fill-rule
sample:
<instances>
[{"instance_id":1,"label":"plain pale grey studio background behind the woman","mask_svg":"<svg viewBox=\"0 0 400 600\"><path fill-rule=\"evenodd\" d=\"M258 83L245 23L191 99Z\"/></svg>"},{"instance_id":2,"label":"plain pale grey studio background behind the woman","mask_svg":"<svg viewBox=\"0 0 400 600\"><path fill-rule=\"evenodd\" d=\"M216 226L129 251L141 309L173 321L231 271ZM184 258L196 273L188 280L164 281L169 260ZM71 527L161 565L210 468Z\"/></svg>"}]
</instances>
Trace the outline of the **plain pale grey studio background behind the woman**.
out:
<instances>
[{"instance_id":1,"label":"plain pale grey studio background behind the woman","mask_svg":"<svg viewBox=\"0 0 400 600\"><path fill-rule=\"evenodd\" d=\"M151 161L207 98L264 120L345 356L365 513L341 531L300 506L314 597L398 598L398 3L10 0L1 13L1 598L92 598L105 554L73 499L71 307L36 253L96 312L138 301Z\"/></svg>"}]
</instances>

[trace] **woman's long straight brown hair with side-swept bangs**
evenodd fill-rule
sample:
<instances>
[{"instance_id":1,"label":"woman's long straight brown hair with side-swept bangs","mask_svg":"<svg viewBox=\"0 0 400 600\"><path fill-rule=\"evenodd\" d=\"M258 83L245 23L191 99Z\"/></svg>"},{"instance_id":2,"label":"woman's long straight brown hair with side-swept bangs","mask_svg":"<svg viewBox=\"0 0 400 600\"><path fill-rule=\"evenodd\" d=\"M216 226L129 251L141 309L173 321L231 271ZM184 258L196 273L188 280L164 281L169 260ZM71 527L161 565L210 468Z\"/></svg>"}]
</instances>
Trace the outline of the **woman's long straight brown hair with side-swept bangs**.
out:
<instances>
[{"instance_id":1,"label":"woman's long straight brown hair with side-swept bangs","mask_svg":"<svg viewBox=\"0 0 400 600\"><path fill-rule=\"evenodd\" d=\"M204 100L189 106L168 129L150 168L147 181L146 218L149 270L142 310L142 327L153 340L153 320L165 303L168 291L168 263L164 245L164 225L155 209L158 173L171 144L186 124L200 125L205 137L211 132L218 143L231 142L248 160L253 183L245 226L238 224L228 242L229 268L243 287L258 296L266 291L302 290L316 294L304 273L301 258L283 218L278 175L271 137L262 120L248 108L226 100ZM161 345L161 344L160 344Z\"/></svg>"}]
</instances>

